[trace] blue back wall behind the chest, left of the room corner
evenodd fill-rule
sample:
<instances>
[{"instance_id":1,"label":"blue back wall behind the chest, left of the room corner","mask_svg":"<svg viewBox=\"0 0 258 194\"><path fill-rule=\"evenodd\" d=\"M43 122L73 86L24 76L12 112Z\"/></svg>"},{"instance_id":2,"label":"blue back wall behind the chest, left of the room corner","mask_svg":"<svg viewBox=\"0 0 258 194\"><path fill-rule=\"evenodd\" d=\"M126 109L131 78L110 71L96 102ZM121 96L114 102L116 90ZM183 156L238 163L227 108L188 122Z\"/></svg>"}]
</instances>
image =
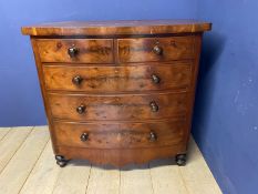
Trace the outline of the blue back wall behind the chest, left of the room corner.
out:
<instances>
[{"instance_id":1,"label":"blue back wall behind the chest, left of the room corner","mask_svg":"<svg viewBox=\"0 0 258 194\"><path fill-rule=\"evenodd\" d=\"M0 1L0 126L45 124L35 65L20 28L38 22L112 19L187 19L196 0Z\"/></svg>"}]
</instances>

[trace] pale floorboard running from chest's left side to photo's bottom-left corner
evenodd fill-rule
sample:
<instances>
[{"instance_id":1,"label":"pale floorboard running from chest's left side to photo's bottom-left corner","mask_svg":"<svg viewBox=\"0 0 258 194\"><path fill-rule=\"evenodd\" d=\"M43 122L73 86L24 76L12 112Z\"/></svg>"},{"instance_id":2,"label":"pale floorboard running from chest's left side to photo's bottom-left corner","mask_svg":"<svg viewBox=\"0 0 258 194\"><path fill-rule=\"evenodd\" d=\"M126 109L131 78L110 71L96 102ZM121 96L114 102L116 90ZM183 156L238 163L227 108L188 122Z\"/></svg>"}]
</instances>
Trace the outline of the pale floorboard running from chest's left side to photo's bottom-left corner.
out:
<instances>
[{"instance_id":1,"label":"pale floorboard running from chest's left side to photo's bottom-left corner","mask_svg":"<svg viewBox=\"0 0 258 194\"><path fill-rule=\"evenodd\" d=\"M45 126L32 130L0 174L0 193L19 193L48 140L49 132Z\"/></svg>"}]
</instances>

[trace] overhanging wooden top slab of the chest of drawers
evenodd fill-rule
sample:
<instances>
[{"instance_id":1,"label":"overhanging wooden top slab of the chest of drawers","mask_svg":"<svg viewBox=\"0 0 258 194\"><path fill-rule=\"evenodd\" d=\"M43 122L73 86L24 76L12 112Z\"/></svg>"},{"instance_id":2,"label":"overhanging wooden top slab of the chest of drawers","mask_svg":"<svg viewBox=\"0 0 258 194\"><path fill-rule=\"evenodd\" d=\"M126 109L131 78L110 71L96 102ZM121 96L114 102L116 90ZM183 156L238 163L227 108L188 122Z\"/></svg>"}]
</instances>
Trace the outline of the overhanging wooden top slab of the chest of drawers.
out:
<instances>
[{"instance_id":1,"label":"overhanging wooden top slab of the chest of drawers","mask_svg":"<svg viewBox=\"0 0 258 194\"><path fill-rule=\"evenodd\" d=\"M68 21L23 27L25 35L123 35L204 32L211 23L195 20Z\"/></svg>"}]
</instances>

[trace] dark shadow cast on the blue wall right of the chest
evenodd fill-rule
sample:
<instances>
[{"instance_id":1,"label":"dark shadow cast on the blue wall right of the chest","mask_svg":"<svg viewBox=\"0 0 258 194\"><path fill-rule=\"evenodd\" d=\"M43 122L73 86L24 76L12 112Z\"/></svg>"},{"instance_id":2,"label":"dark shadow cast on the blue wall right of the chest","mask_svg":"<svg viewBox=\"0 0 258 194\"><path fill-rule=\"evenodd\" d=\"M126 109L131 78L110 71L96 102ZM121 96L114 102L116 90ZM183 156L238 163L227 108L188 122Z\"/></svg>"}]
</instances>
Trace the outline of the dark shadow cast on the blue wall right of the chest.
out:
<instances>
[{"instance_id":1,"label":"dark shadow cast on the blue wall right of the chest","mask_svg":"<svg viewBox=\"0 0 258 194\"><path fill-rule=\"evenodd\" d=\"M203 50L199 64L198 85L193 118L193 134L202 149L207 133L206 123L210 119L210 104L213 103L216 82L217 61L224 51L226 39L217 32L204 35Z\"/></svg>"}]
</instances>

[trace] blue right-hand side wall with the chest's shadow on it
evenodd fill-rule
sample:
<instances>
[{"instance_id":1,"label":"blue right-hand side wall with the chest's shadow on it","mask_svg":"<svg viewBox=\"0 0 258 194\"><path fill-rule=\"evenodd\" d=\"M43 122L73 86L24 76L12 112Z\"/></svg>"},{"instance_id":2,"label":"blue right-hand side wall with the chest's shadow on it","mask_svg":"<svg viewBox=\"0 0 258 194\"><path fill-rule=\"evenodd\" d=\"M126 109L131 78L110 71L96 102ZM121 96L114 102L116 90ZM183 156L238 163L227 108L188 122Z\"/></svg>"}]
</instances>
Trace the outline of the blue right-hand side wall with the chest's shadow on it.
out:
<instances>
[{"instance_id":1,"label":"blue right-hand side wall with the chest's shadow on it","mask_svg":"<svg viewBox=\"0 0 258 194\"><path fill-rule=\"evenodd\" d=\"M225 194L258 193L258 1L199 0L204 40L194 135Z\"/></svg>"}]
</instances>

